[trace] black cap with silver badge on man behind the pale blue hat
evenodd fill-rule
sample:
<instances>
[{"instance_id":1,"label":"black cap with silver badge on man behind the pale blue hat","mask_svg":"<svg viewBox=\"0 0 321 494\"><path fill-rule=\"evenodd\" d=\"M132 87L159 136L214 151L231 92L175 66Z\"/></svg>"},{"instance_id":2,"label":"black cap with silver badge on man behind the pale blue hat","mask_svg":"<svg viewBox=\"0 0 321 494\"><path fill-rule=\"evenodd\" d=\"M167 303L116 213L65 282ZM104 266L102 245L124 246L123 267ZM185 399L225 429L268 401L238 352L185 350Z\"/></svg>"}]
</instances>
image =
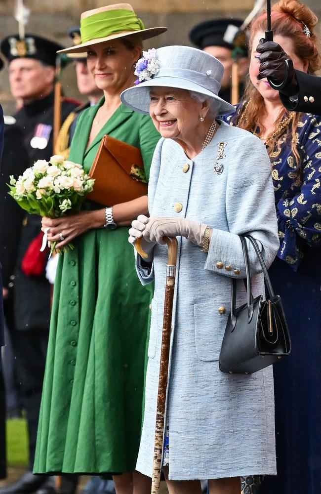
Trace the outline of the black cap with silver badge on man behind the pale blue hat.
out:
<instances>
[{"instance_id":1,"label":"black cap with silver badge on man behind the pale blue hat","mask_svg":"<svg viewBox=\"0 0 321 494\"><path fill-rule=\"evenodd\" d=\"M199 48L206 46L224 46L233 50L235 48L234 39L243 21L241 19L212 19L197 24L189 34L190 40ZM240 56L247 56L246 42L239 47Z\"/></svg>"}]
</instances>

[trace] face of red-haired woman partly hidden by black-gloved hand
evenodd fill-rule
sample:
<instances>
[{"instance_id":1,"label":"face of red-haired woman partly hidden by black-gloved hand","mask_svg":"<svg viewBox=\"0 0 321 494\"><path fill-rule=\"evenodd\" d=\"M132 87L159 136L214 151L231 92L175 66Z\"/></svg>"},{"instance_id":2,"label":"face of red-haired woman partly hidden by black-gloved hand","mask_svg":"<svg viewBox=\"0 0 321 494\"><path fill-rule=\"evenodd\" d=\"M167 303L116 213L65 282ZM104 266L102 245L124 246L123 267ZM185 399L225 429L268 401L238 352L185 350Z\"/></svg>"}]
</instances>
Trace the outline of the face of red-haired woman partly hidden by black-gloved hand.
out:
<instances>
[{"instance_id":1,"label":"face of red-haired woman partly hidden by black-gloved hand","mask_svg":"<svg viewBox=\"0 0 321 494\"><path fill-rule=\"evenodd\" d=\"M258 58L255 58L258 55L256 51L256 47L259 44L260 39L264 38L264 36L265 34L262 31L256 33L253 38L249 76L253 86L256 87L256 89L259 91L259 93L261 94L261 96L263 96L264 99L266 99L267 101L279 101L280 100L279 91L272 89L267 79L262 79L261 81L257 80L257 75L259 73L259 68L260 68L260 61ZM280 46L285 51L285 53L287 53L289 58L292 59L294 69L307 72L308 62L304 62L295 54L293 41L290 38L276 35L274 36L274 41L276 43L279 43Z\"/></svg>"}]
</instances>

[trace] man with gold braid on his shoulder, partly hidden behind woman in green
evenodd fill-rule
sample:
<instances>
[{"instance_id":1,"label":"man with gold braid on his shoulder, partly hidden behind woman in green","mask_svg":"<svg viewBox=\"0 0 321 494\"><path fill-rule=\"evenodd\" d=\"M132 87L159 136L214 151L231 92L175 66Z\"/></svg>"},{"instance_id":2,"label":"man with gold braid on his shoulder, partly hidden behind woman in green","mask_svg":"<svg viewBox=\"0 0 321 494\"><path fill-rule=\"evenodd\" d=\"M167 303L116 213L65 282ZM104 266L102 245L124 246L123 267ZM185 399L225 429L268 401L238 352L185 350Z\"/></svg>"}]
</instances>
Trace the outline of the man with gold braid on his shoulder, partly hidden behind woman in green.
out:
<instances>
[{"instance_id":1,"label":"man with gold braid on his shoulder, partly hidden behind woman in green","mask_svg":"<svg viewBox=\"0 0 321 494\"><path fill-rule=\"evenodd\" d=\"M68 34L74 41L75 45L80 44L80 27L70 29ZM68 115L59 132L55 147L55 153L67 158L69 155L70 143L73 138L80 113L82 112L82 110L85 110L86 108L89 108L90 106L98 103L100 98L103 96L103 91L98 89L94 78L88 71L87 52L71 53L66 54L65 56L72 60L74 63L77 85L80 94L88 98L88 101L86 103L83 103L79 107L75 108L75 110L70 115Z\"/></svg>"}]
</instances>

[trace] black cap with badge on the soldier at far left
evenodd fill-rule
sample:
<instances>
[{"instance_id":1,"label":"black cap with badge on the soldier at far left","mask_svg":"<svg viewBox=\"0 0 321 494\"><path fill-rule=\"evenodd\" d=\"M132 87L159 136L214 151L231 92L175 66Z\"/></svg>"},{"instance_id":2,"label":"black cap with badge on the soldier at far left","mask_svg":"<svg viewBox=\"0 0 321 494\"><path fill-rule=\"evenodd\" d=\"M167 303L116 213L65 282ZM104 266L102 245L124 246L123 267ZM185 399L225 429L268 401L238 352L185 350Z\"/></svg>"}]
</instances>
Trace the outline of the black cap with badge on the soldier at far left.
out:
<instances>
[{"instance_id":1,"label":"black cap with badge on the soldier at far left","mask_svg":"<svg viewBox=\"0 0 321 494\"><path fill-rule=\"evenodd\" d=\"M18 34L7 36L0 44L1 52L9 63L16 58L34 58L53 67L56 66L56 52L62 48L55 41L28 33L24 39L20 39Z\"/></svg>"}]
</instances>

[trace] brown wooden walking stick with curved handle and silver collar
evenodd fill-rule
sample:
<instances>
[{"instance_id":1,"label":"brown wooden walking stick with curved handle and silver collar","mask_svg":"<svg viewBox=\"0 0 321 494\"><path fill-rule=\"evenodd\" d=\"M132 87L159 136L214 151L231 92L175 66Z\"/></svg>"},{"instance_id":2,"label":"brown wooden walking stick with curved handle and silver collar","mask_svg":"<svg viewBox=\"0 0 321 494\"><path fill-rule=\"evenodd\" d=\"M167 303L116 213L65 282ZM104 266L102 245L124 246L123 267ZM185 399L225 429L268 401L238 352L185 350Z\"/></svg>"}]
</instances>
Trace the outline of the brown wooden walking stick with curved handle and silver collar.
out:
<instances>
[{"instance_id":1,"label":"brown wooden walking stick with curved handle and silver collar","mask_svg":"<svg viewBox=\"0 0 321 494\"><path fill-rule=\"evenodd\" d=\"M154 442L154 461L152 474L152 492L151 494L159 494L161 483L161 457L164 438L164 420L165 420L165 402L166 389L168 381L168 361L169 361L169 346L170 346L170 330L172 323L172 311L175 288L175 271L177 259L177 239L176 237L164 237L164 241L168 246L167 267L166 267L166 285L165 285L165 301L163 327L161 335L161 362L160 362L160 377L157 395L157 412L156 412L156 427L155 427L155 442ZM140 246L140 239L135 242L137 252L143 257L144 251Z\"/></svg>"}]
</instances>

